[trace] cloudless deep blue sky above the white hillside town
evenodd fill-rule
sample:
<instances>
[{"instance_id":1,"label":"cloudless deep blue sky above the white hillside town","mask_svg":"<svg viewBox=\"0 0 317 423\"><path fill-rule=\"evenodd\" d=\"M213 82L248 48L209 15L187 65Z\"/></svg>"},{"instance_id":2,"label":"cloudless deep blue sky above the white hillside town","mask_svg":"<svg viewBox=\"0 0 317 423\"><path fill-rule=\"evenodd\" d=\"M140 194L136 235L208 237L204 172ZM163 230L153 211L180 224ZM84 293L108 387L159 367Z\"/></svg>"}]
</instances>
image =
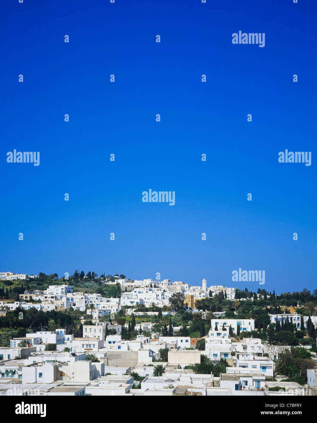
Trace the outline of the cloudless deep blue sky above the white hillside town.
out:
<instances>
[{"instance_id":1,"label":"cloudless deep blue sky above the white hillside town","mask_svg":"<svg viewBox=\"0 0 317 423\"><path fill-rule=\"evenodd\" d=\"M316 9L3 3L0 271L257 291L232 282L241 267L265 270L268 291L316 288ZM239 30L265 47L232 44ZM14 149L40 165L7 163ZM311 151L311 166L278 163L285 149ZM175 206L142 203L149 188L175 191Z\"/></svg>"}]
</instances>

